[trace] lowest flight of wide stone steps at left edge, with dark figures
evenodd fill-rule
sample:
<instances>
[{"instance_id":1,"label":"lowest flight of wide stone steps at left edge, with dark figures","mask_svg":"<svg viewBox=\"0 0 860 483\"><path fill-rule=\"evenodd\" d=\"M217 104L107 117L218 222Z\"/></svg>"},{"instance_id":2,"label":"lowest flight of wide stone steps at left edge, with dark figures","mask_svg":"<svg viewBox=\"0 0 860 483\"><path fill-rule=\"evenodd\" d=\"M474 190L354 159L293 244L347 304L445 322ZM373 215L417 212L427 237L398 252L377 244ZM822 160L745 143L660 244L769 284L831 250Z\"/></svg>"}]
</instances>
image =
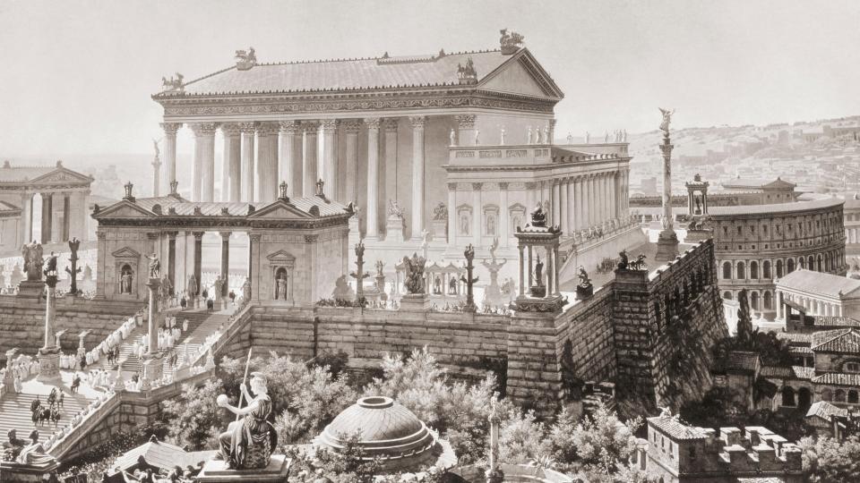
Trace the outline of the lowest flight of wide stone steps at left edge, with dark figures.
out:
<instances>
[{"instance_id":1,"label":"lowest flight of wide stone steps at left edge, with dark figures","mask_svg":"<svg viewBox=\"0 0 860 483\"><path fill-rule=\"evenodd\" d=\"M56 430L52 423L46 422L44 426L36 426L33 424L30 415L30 403L36 399L37 394L4 394L0 400L0 435L5 438L6 433L10 429L17 432L20 439L27 440L30 436L30 431L33 429L39 430L39 441L45 441L47 436ZM39 395L43 407L47 407L47 396ZM59 428L63 428L69 424L73 416L81 412L83 408L90 405L90 402L95 399L87 399L82 394L70 394L65 391L63 407L60 408Z\"/></svg>"}]
</instances>

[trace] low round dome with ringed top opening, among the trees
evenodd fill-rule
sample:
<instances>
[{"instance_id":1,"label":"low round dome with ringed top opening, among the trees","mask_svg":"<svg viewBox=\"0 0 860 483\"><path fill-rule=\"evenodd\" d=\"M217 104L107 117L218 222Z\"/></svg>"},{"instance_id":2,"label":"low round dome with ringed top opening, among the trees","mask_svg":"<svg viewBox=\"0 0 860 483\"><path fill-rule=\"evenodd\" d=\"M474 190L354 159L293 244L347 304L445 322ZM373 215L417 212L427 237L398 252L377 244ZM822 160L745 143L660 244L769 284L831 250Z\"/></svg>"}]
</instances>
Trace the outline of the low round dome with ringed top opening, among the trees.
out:
<instances>
[{"instance_id":1,"label":"low round dome with ringed top opening, among the trees","mask_svg":"<svg viewBox=\"0 0 860 483\"><path fill-rule=\"evenodd\" d=\"M427 466L448 469L457 464L451 445L390 397L359 399L314 438L314 446L338 453L346 438L356 434L365 458L378 457L385 471L417 471Z\"/></svg>"}]
</instances>

